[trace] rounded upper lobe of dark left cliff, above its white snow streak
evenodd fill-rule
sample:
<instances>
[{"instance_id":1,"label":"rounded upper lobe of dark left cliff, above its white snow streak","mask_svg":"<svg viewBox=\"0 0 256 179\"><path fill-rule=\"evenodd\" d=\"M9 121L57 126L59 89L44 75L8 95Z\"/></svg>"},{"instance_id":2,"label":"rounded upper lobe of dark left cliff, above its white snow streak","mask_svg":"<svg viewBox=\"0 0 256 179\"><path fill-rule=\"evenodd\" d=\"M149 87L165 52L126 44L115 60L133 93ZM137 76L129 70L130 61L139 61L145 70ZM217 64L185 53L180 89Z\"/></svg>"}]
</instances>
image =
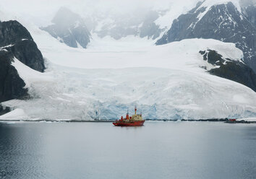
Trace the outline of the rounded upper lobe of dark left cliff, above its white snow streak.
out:
<instances>
[{"instance_id":1,"label":"rounded upper lobe of dark left cliff, above its white snow streak","mask_svg":"<svg viewBox=\"0 0 256 179\"><path fill-rule=\"evenodd\" d=\"M0 22L0 47L13 53L14 57L31 69L43 72L42 53L30 32L17 21Z\"/></svg>"}]
</instances>

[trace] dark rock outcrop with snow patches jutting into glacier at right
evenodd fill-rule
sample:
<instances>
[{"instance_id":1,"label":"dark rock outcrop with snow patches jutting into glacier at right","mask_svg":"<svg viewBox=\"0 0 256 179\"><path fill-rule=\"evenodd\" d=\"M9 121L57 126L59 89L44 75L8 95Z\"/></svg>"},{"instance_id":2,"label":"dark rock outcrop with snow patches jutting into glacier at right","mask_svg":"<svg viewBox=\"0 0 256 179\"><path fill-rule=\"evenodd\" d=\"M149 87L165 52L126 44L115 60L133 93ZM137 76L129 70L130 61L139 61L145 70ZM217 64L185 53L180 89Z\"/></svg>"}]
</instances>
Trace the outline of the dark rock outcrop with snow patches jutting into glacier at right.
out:
<instances>
[{"instance_id":1,"label":"dark rock outcrop with snow patches jutting into glacier at right","mask_svg":"<svg viewBox=\"0 0 256 179\"><path fill-rule=\"evenodd\" d=\"M203 56L203 60L214 66L219 66L208 70L210 74L239 82L256 92L256 74L247 64L223 58L218 52L212 50L200 51L200 54Z\"/></svg>"}]
</instances>

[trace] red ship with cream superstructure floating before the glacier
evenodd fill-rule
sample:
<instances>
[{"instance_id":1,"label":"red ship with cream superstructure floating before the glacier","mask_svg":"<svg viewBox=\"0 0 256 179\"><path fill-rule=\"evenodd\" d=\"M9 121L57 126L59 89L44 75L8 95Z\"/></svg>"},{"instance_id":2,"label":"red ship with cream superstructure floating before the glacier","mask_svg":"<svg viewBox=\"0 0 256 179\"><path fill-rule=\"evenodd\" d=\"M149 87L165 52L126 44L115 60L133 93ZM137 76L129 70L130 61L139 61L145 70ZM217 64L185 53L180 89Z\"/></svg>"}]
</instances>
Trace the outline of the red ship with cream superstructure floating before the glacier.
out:
<instances>
[{"instance_id":1,"label":"red ship with cream superstructure floating before the glacier","mask_svg":"<svg viewBox=\"0 0 256 179\"><path fill-rule=\"evenodd\" d=\"M143 126L145 120L142 118L142 114L137 114L137 108L135 106L135 114L129 117L127 112L126 118L121 116L120 120L114 121L114 126Z\"/></svg>"}]
</instances>

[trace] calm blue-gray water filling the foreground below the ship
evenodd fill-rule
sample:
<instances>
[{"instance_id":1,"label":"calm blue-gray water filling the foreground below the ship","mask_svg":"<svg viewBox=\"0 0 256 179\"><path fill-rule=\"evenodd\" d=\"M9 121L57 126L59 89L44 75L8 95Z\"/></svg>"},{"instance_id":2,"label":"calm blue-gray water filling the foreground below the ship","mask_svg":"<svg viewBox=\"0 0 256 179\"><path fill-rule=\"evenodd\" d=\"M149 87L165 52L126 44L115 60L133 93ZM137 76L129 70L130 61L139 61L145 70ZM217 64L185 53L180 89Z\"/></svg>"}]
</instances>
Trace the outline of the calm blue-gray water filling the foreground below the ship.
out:
<instances>
[{"instance_id":1,"label":"calm blue-gray water filling the foreground below the ship","mask_svg":"<svg viewBox=\"0 0 256 179\"><path fill-rule=\"evenodd\" d=\"M0 123L0 178L256 178L256 125Z\"/></svg>"}]
</instances>

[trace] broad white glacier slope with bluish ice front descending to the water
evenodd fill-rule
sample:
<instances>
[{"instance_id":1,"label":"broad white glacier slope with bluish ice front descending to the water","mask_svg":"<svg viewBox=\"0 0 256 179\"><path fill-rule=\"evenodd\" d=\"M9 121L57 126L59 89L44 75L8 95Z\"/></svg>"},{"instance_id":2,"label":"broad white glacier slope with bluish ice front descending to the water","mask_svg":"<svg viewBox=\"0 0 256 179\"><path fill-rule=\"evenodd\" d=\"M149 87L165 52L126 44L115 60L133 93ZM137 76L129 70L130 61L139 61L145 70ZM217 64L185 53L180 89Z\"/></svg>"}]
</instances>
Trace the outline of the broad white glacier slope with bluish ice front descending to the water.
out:
<instances>
[{"instance_id":1,"label":"broad white glacier slope with bluish ice front descending to the water","mask_svg":"<svg viewBox=\"0 0 256 179\"><path fill-rule=\"evenodd\" d=\"M109 119L124 115L134 105L142 109L145 118L152 119L244 118L256 114L255 92L199 67L215 68L205 64L198 53L208 48L239 61L242 51L234 44L192 39L144 48L129 45L116 51L114 45L101 51L66 46L59 48L58 59L54 48L49 51L39 43L48 58L46 73L35 74L17 59L13 64L30 84L33 99L11 100L4 105L24 111L22 116L28 119Z\"/></svg>"}]
</instances>

